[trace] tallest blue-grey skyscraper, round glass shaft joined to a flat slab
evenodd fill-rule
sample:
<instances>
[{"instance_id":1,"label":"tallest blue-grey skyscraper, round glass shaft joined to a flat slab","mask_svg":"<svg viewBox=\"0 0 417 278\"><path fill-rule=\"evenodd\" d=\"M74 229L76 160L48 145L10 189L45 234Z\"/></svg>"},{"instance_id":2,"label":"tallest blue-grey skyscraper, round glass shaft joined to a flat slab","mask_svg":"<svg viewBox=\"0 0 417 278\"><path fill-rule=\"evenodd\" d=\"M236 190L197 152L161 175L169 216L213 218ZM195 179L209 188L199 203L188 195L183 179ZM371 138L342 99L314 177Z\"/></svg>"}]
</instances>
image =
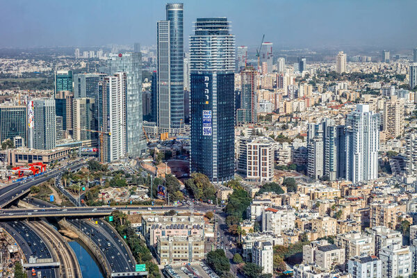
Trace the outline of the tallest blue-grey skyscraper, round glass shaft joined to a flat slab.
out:
<instances>
[{"instance_id":1,"label":"tallest blue-grey skyscraper, round glass shaft joined to a flat slab","mask_svg":"<svg viewBox=\"0 0 417 278\"><path fill-rule=\"evenodd\" d=\"M166 20L157 23L158 129L184 131L183 4L168 3Z\"/></svg>"}]
</instances>

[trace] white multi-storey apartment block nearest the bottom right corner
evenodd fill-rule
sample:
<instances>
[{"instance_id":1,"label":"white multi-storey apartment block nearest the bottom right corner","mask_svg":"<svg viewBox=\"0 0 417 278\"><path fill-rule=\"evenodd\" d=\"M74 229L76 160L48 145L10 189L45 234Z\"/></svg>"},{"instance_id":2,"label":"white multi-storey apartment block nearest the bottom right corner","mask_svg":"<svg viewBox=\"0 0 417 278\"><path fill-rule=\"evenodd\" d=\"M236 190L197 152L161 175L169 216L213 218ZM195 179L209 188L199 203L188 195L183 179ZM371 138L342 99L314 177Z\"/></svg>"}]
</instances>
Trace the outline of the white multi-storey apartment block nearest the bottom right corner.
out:
<instances>
[{"instance_id":1,"label":"white multi-storey apartment block nearest the bottom right corner","mask_svg":"<svg viewBox=\"0 0 417 278\"><path fill-rule=\"evenodd\" d=\"M408 278L412 275L411 252L400 243L382 247L379 253L382 261L382 278Z\"/></svg>"}]
</instances>

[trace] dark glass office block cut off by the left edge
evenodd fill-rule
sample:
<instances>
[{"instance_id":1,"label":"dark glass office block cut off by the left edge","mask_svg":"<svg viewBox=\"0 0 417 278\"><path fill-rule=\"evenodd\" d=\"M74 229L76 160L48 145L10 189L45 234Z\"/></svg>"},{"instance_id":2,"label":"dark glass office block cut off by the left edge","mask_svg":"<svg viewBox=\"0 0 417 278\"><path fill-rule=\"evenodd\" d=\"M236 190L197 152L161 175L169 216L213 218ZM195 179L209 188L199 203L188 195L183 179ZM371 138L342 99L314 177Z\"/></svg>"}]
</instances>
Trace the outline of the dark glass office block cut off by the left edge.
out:
<instances>
[{"instance_id":1,"label":"dark glass office block cut off by the left edge","mask_svg":"<svg viewBox=\"0 0 417 278\"><path fill-rule=\"evenodd\" d=\"M20 136L27 143L26 106L0 106L0 142Z\"/></svg>"}]
</instances>

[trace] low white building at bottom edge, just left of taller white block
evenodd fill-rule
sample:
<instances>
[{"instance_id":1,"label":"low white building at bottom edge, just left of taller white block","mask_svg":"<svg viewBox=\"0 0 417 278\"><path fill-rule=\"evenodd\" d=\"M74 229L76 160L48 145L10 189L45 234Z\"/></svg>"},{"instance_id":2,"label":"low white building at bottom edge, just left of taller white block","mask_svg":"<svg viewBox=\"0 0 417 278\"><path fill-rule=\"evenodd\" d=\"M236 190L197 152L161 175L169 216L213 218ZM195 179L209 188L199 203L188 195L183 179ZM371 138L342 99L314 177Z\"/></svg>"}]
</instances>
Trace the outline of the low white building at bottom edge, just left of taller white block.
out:
<instances>
[{"instance_id":1,"label":"low white building at bottom edge, just left of taller white block","mask_svg":"<svg viewBox=\"0 0 417 278\"><path fill-rule=\"evenodd\" d=\"M352 278L382 278L382 261L377 256L354 256L347 262Z\"/></svg>"}]
</instances>

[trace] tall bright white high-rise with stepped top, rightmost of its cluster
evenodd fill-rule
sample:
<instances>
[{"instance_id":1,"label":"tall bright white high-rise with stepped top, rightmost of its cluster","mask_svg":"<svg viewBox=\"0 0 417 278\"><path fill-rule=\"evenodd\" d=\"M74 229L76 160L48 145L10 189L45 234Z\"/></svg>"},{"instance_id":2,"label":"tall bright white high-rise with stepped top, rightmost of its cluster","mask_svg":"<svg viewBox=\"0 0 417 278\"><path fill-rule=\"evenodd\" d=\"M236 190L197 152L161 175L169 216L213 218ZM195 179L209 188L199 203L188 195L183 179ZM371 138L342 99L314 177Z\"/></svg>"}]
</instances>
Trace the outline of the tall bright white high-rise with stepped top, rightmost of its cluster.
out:
<instances>
[{"instance_id":1,"label":"tall bright white high-rise with stepped top, rightmost of its cluster","mask_svg":"<svg viewBox=\"0 0 417 278\"><path fill-rule=\"evenodd\" d=\"M378 177L378 117L368 104L346 115L346 179L352 183Z\"/></svg>"}]
</instances>

